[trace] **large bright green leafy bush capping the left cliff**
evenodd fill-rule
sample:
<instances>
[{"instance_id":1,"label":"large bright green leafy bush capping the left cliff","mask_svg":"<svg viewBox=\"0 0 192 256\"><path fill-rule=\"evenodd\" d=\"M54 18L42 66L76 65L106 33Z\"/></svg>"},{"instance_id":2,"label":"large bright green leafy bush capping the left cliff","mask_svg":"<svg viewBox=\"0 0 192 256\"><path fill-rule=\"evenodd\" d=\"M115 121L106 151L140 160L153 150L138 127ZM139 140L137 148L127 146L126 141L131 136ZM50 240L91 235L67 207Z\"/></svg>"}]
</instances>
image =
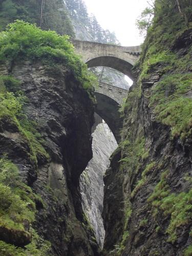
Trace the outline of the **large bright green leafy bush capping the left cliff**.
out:
<instances>
[{"instance_id":1,"label":"large bright green leafy bush capping the left cliff","mask_svg":"<svg viewBox=\"0 0 192 256\"><path fill-rule=\"evenodd\" d=\"M0 33L0 61L39 59L46 65L63 63L74 73L84 89L92 89L96 78L74 53L69 36L54 31L43 31L35 25L16 20Z\"/></svg>"}]
</instances>

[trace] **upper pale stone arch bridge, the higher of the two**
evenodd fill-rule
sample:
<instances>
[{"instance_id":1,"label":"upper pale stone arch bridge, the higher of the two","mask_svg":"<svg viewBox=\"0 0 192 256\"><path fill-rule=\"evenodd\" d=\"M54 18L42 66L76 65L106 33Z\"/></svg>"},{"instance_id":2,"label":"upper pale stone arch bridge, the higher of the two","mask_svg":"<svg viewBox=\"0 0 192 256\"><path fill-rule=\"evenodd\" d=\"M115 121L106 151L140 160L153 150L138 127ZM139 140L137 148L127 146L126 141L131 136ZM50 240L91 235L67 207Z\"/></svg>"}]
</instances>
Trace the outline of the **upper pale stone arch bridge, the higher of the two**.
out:
<instances>
[{"instance_id":1,"label":"upper pale stone arch bridge, the higher of the two","mask_svg":"<svg viewBox=\"0 0 192 256\"><path fill-rule=\"evenodd\" d=\"M75 52L82 56L88 68L110 67L129 76L131 79L134 78L132 67L139 59L140 46L124 47L80 40L73 40L72 43L75 47Z\"/></svg>"}]
</instances>

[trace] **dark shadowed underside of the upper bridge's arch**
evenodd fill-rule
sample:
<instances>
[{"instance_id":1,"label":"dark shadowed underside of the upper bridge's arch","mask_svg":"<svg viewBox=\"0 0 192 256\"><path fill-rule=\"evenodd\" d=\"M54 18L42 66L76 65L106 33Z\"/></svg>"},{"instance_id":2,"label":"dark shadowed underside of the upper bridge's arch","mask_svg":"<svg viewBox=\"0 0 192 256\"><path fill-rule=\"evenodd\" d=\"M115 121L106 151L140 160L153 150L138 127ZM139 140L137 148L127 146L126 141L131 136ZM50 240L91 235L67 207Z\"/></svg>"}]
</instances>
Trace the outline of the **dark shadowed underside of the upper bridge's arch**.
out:
<instances>
[{"instance_id":1,"label":"dark shadowed underside of the upper bridge's arch","mask_svg":"<svg viewBox=\"0 0 192 256\"><path fill-rule=\"evenodd\" d=\"M132 72L133 65L123 59L114 56L99 56L94 57L86 61L88 68L103 66L109 67L120 71L124 75L134 80L134 74Z\"/></svg>"}]
</instances>

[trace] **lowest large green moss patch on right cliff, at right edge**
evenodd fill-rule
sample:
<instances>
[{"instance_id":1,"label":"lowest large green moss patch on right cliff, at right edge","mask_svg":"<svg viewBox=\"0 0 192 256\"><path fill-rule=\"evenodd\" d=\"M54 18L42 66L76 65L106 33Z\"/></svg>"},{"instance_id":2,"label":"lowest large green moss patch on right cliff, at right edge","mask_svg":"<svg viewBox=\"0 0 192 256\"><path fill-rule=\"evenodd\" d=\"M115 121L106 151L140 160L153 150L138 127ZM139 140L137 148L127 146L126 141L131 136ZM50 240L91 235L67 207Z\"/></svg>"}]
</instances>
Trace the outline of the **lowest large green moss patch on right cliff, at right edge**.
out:
<instances>
[{"instance_id":1,"label":"lowest large green moss patch on right cliff, at right edge","mask_svg":"<svg viewBox=\"0 0 192 256\"><path fill-rule=\"evenodd\" d=\"M159 210L164 216L169 216L170 221L166 229L168 233L168 242L174 243L177 238L177 230L191 223L192 220L192 189L187 193L179 194L170 193L170 188L167 185L168 171L161 174L159 183L155 186L152 195L148 198L148 203L151 204L154 217L156 218Z\"/></svg>"}]
</instances>

